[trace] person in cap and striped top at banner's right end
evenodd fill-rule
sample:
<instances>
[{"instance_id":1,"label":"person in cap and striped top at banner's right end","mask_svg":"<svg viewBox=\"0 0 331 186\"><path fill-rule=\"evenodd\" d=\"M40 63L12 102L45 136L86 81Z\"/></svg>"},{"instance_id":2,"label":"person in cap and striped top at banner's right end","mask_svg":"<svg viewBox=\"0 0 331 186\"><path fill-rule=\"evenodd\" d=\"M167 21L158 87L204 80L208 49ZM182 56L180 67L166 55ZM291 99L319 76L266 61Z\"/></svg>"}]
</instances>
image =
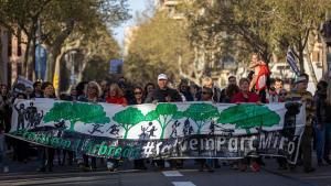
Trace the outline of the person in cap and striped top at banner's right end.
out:
<instances>
[{"instance_id":1,"label":"person in cap and striped top at banner's right end","mask_svg":"<svg viewBox=\"0 0 331 186\"><path fill-rule=\"evenodd\" d=\"M312 160L311 160L311 153L312 153L311 143L312 143L312 135L313 135L312 119L316 113L316 107L313 103L313 98L311 92L307 91L308 80L309 80L309 76L307 74L301 74L296 81L296 88L292 89L290 94L287 95L286 97L286 101L302 101L306 103L306 123L303 123L306 125L301 138L302 154L299 154L299 160L301 158L300 155L302 155L305 173L311 173L314 171L314 168L312 167Z\"/></svg>"}]
</instances>

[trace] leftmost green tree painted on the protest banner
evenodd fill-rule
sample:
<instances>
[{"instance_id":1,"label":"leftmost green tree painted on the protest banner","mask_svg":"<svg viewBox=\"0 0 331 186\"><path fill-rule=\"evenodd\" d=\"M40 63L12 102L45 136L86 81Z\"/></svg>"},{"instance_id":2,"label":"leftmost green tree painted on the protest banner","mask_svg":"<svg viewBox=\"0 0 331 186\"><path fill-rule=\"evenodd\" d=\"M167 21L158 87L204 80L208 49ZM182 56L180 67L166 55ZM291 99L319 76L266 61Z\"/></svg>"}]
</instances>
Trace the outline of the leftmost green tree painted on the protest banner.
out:
<instances>
[{"instance_id":1,"label":"leftmost green tree painted on the protest banner","mask_svg":"<svg viewBox=\"0 0 331 186\"><path fill-rule=\"evenodd\" d=\"M44 122L60 122L61 120L70 121L70 131L75 131L75 124L78 121L98 124L110 122L103 106L83 102L55 102L43 119Z\"/></svg>"}]
</instances>

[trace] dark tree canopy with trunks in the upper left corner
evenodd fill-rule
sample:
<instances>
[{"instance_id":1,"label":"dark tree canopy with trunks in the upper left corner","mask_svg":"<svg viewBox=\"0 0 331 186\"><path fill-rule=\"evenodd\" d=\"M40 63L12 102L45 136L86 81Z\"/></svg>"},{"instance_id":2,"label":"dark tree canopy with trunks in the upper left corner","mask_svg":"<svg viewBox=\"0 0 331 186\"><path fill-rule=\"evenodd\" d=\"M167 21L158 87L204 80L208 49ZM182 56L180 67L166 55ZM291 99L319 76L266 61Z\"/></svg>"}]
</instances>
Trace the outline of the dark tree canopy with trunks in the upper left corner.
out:
<instances>
[{"instance_id":1,"label":"dark tree canopy with trunks in the upper left corner","mask_svg":"<svg viewBox=\"0 0 331 186\"><path fill-rule=\"evenodd\" d=\"M66 39L75 32L94 35L99 25L114 26L127 20L127 0L1 0L0 25L26 35L24 57L29 78L33 74L36 39L49 50L49 79L52 79L55 62ZM38 23L41 35L38 35ZM28 63L29 61L29 63ZM29 68L28 68L29 67Z\"/></svg>"}]
</instances>

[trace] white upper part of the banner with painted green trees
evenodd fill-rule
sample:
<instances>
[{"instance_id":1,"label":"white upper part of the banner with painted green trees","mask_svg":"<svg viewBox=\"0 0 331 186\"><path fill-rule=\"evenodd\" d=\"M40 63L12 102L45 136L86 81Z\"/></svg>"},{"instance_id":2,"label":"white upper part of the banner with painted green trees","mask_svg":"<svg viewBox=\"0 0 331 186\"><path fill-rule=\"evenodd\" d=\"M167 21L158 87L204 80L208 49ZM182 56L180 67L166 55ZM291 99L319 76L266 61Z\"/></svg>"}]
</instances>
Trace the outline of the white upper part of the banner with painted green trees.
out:
<instances>
[{"instance_id":1,"label":"white upper part of the banner with painted green trees","mask_svg":"<svg viewBox=\"0 0 331 186\"><path fill-rule=\"evenodd\" d=\"M293 129L305 123L300 107ZM285 103L177 102L122 107L36 99L14 105L11 132L40 127L56 128L113 139L169 139L191 134L242 135L282 130ZM293 122L293 121L292 121ZM296 133L301 131L296 131Z\"/></svg>"}]
</instances>

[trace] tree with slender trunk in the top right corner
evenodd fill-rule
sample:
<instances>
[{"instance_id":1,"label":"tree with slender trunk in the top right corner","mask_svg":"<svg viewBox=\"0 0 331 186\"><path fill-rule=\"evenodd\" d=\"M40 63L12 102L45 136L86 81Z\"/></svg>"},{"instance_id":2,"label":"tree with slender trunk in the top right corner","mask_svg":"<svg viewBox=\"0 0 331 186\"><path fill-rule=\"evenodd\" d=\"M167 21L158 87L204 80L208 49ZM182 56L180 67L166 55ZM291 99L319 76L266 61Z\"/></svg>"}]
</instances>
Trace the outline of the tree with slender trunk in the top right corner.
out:
<instances>
[{"instance_id":1,"label":"tree with slender trunk in the top right corner","mask_svg":"<svg viewBox=\"0 0 331 186\"><path fill-rule=\"evenodd\" d=\"M330 0L267 0L273 9L266 12L273 18L271 30L275 37L292 48L299 61L300 72L305 72L305 53L310 58L309 40L316 43L320 37L320 25L328 10ZM286 48L287 50L287 48ZM311 68L311 62L308 63Z\"/></svg>"}]
</instances>

